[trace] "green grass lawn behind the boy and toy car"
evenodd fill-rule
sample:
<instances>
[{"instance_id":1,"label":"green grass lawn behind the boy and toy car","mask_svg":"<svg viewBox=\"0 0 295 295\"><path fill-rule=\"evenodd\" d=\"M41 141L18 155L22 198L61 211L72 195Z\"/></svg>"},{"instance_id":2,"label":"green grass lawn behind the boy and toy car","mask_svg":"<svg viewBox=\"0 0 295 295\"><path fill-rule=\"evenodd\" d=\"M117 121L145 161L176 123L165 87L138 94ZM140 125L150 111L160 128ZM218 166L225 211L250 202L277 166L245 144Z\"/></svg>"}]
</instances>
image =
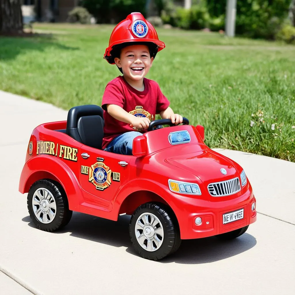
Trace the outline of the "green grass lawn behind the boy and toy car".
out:
<instances>
[{"instance_id":1,"label":"green grass lawn behind the boy and toy car","mask_svg":"<svg viewBox=\"0 0 295 295\"><path fill-rule=\"evenodd\" d=\"M0 38L0 89L64 109L101 104L120 73L103 59L113 26L36 24L38 38ZM295 46L159 29L166 48L147 78L205 126L209 147L295 162ZM274 129L274 130L273 130Z\"/></svg>"}]
</instances>

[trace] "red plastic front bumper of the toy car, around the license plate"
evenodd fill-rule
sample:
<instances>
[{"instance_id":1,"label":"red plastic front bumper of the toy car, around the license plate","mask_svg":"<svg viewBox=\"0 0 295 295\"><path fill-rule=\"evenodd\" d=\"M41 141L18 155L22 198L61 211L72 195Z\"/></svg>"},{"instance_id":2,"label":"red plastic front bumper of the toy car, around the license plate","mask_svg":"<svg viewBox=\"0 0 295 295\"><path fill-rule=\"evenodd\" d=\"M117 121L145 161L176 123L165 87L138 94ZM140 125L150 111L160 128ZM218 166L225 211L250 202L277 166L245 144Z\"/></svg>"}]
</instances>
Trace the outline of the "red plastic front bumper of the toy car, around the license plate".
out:
<instances>
[{"instance_id":1,"label":"red plastic front bumper of the toy car, around the license plate","mask_svg":"<svg viewBox=\"0 0 295 295\"><path fill-rule=\"evenodd\" d=\"M197 239L219 235L224 232L239 229L256 221L257 212L251 210L253 202L256 202L252 188L241 196L225 201L204 201L193 198L182 199L185 206L174 210L178 219L181 239ZM223 214L244 209L242 219L223 224ZM195 219L201 217L202 223L195 224Z\"/></svg>"}]
</instances>

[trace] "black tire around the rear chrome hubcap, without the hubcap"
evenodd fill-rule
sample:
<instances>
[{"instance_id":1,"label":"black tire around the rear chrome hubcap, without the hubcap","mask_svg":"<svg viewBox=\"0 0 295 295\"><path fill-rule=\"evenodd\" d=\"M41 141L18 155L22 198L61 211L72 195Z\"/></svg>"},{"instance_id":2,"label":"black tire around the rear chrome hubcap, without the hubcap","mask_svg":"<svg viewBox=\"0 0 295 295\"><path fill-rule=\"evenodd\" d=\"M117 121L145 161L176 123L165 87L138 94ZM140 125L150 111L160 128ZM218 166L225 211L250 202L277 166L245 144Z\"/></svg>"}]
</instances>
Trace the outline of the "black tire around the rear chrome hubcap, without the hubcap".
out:
<instances>
[{"instance_id":1,"label":"black tire around the rear chrome hubcap, without the hubcap","mask_svg":"<svg viewBox=\"0 0 295 295\"><path fill-rule=\"evenodd\" d=\"M54 212L55 210L53 209L55 216L52 220L48 220L48 223L42 223L41 221L39 221L33 209L32 199L34 193L40 188L47 189L52 194L56 204L56 212ZM51 200L51 202L53 201ZM73 211L69 210L68 199L65 191L63 190L63 187L58 182L49 179L41 179L32 184L27 196L27 205L30 217L35 226L39 230L45 230L47 232L53 232L67 225L70 222L73 214ZM35 209L38 209L38 205L35 206ZM42 215L40 216L43 217L44 213L41 214ZM49 215L47 215L47 217L47 219L50 219Z\"/></svg>"}]
</instances>

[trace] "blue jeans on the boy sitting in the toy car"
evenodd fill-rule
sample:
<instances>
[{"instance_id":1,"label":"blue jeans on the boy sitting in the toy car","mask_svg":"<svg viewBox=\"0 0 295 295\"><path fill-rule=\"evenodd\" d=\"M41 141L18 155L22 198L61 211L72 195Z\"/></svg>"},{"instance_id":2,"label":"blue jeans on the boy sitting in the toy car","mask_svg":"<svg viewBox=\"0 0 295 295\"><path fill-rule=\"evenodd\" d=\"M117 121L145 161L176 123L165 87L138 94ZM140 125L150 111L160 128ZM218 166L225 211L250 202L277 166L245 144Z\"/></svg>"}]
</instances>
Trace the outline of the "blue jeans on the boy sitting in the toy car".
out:
<instances>
[{"instance_id":1,"label":"blue jeans on the boy sitting in the toy car","mask_svg":"<svg viewBox=\"0 0 295 295\"><path fill-rule=\"evenodd\" d=\"M107 145L104 150L115 154L132 155L133 140L139 135L142 135L142 133L137 131L130 131L118 135Z\"/></svg>"}]
</instances>

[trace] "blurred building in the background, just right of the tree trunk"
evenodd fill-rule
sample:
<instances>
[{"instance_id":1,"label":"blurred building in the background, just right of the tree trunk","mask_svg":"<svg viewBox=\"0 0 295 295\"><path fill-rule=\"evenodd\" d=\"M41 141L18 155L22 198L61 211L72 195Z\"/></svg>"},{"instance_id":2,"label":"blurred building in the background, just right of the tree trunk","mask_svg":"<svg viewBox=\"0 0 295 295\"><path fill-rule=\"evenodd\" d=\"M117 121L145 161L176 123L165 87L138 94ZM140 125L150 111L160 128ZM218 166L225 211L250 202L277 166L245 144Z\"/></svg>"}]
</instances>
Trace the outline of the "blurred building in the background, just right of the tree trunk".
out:
<instances>
[{"instance_id":1,"label":"blurred building in the background, just right of the tree trunk","mask_svg":"<svg viewBox=\"0 0 295 295\"><path fill-rule=\"evenodd\" d=\"M21 0L24 22L65 22L79 0Z\"/></svg>"}]
</instances>

